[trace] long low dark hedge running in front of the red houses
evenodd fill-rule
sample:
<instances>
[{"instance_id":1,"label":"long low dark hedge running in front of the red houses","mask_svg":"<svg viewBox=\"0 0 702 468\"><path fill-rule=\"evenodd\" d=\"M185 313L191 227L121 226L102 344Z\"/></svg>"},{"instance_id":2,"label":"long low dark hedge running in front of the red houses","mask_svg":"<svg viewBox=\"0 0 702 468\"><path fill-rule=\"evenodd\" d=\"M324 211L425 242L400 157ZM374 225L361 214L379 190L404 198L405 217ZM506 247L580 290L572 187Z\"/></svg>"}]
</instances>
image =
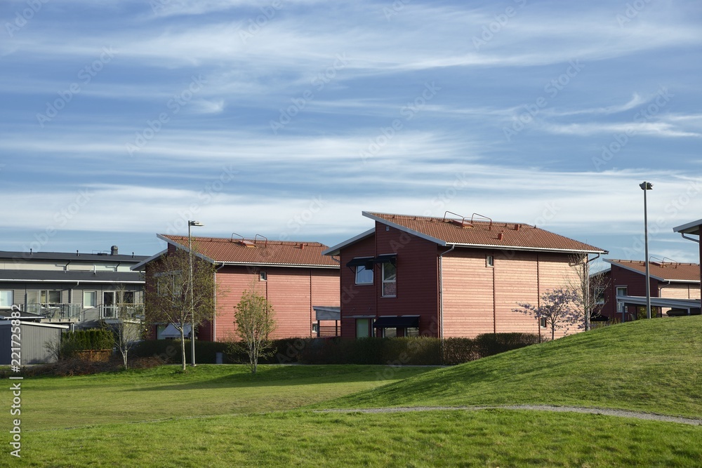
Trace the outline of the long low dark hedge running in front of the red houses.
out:
<instances>
[{"instance_id":1,"label":"long low dark hedge running in front of the red houses","mask_svg":"<svg viewBox=\"0 0 702 468\"><path fill-rule=\"evenodd\" d=\"M538 342L531 333L486 333L475 338L288 338L274 340L272 354L259 363L380 364L436 366L460 364L517 349ZM248 356L233 352L226 342L199 341L195 345L198 363L246 363ZM130 353L135 357L158 356L170 363L180 362L180 340L146 340ZM185 341L185 360L190 362L190 340Z\"/></svg>"}]
</instances>

